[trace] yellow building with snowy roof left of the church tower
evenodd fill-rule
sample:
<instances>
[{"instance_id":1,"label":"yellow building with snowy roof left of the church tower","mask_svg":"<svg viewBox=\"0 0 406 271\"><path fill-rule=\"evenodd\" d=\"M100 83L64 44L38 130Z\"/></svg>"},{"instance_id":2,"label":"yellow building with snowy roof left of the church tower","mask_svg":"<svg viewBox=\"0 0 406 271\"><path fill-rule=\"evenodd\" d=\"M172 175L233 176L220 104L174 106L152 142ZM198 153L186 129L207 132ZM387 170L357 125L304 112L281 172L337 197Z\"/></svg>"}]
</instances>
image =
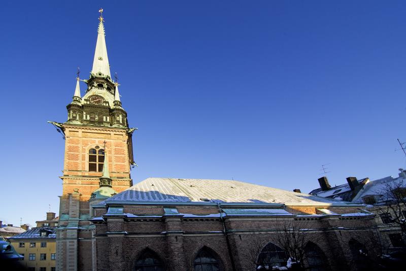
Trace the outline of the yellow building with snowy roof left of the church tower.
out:
<instances>
[{"instance_id":1,"label":"yellow building with snowy roof left of the church tower","mask_svg":"<svg viewBox=\"0 0 406 271\"><path fill-rule=\"evenodd\" d=\"M9 238L21 265L28 271L55 271L56 234L53 227L37 227Z\"/></svg>"}]
</instances>

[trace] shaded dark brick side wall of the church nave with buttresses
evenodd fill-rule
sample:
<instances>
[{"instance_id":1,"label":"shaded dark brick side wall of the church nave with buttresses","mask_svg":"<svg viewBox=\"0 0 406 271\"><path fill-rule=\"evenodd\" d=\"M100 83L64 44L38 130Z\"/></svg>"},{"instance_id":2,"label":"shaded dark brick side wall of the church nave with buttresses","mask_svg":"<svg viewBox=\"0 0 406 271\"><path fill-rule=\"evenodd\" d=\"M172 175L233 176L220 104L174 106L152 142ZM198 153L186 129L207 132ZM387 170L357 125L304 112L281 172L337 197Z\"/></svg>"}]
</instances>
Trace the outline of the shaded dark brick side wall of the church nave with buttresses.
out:
<instances>
[{"instance_id":1,"label":"shaded dark brick side wall of the church nave with buttresses","mask_svg":"<svg viewBox=\"0 0 406 271\"><path fill-rule=\"evenodd\" d=\"M326 270L356 270L349 248L354 239L365 245L374 254L374 247L364 244L363 238L371 234L375 226L374 216L363 217L278 217L278 216L224 216L199 218L195 216L166 216L164 206L126 205L124 213L145 215L131 217L125 214L105 214L103 220L94 220L96 270L134 270L134 264L145 249L154 251L165 266L165 270L194 270L197 252L206 247L213 251L223 271L255 270L250 260L253 242L267 244L274 240L273 234L280 230L283 220L295 219L300 227L311 225L309 241L317 240L324 254ZM176 206L184 213L214 214L219 210L213 206ZM319 207L317 207L319 208ZM309 210L314 207L309 206ZM346 208L341 208L345 211ZM99 209L106 212L106 209ZM148 210L146 212L146 210ZM195 212L190 212L194 210ZM347 209L351 213L351 208ZM180 212L182 213L182 212ZM279 224L278 224L279 223ZM224 234L224 229L226 234ZM260 251L257 251L259 254Z\"/></svg>"}]
</instances>

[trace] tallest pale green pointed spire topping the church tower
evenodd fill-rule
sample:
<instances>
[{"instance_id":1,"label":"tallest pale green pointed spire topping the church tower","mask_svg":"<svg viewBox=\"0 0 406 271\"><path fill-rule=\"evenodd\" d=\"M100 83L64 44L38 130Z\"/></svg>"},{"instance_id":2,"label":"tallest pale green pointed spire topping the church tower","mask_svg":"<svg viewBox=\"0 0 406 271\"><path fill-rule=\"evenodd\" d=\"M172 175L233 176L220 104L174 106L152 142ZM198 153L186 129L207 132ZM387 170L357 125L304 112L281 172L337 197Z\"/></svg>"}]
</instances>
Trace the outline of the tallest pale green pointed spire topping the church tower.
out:
<instances>
[{"instance_id":1,"label":"tallest pale green pointed spire topping the church tower","mask_svg":"<svg viewBox=\"0 0 406 271\"><path fill-rule=\"evenodd\" d=\"M103 9L99 10L100 17L97 29L97 42L96 50L94 51L93 67L91 73L99 76L110 76L109 58L107 57L106 39L105 39L105 26L103 25Z\"/></svg>"}]
</instances>

